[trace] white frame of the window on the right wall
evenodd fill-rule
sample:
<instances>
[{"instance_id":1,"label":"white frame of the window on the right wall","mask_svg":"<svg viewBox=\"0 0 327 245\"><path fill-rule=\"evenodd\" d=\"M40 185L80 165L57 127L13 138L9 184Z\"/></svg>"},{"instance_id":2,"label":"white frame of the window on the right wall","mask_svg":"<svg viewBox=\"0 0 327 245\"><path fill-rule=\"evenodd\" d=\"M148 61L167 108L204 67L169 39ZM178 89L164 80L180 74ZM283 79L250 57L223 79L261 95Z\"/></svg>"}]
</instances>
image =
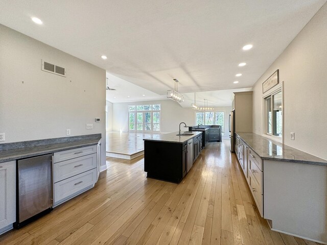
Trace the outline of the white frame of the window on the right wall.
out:
<instances>
[{"instance_id":1,"label":"white frame of the window on the right wall","mask_svg":"<svg viewBox=\"0 0 327 245\"><path fill-rule=\"evenodd\" d=\"M274 104L274 100L273 100L273 96L279 92L282 92L282 136L276 136L274 135L274 130L275 130L275 116L273 113L273 104ZM271 105L271 133L268 133L268 108L267 108L267 98L270 97L270 105ZM284 142L284 86L283 86L283 82L279 83L278 85L276 85L275 87L273 87L272 89L268 90L267 92L265 92L262 95L262 109L263 109L263 113L262 113L262 123L263 123L263 131L262 131L262 135L266 138L270 138L272 140L275 140L277 142L283 143Z\"/></svg>"}]
</instances>

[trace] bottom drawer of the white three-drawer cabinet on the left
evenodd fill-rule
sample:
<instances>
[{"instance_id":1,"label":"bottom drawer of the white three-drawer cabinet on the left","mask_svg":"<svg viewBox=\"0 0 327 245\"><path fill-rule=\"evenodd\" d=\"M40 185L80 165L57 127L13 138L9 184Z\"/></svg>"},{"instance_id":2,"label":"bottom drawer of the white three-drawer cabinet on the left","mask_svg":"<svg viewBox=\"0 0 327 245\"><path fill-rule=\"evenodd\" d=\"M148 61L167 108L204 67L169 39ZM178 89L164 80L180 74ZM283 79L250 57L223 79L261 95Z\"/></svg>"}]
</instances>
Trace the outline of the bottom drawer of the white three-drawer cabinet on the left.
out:
<instances>
[{"instance_id":1,"label":"bottom drawer of the white three-drawer cabinet on the left","mask_svg":"<svg viewBox=\"0 0 327 245\"><path fill-rule=\"evenodd\" d=\"M97 182L97 169L59 181L54 185L55 204L61 200L73 196L75 193L89 187Z\"/></svg>"}]
</instances>

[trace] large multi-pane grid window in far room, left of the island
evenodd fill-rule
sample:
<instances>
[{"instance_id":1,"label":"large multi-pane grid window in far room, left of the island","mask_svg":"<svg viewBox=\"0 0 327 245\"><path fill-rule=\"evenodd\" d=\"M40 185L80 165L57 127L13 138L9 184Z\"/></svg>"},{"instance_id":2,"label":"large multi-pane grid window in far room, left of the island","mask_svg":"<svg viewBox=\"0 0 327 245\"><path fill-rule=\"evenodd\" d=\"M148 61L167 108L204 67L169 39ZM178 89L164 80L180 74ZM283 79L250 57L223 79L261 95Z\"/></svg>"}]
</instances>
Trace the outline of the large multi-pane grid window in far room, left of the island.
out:
<instances>
[{"instance_id":1,"label":"large multi-pane grid window in far room, left of the island","mask_svg":"<svg viewBox=\"0 0 327 245\"><path fill-rule=\"evenodd\" d=\"M160 105L128 106L129 132L159 132Z\"/></svg>"}]
</instances>

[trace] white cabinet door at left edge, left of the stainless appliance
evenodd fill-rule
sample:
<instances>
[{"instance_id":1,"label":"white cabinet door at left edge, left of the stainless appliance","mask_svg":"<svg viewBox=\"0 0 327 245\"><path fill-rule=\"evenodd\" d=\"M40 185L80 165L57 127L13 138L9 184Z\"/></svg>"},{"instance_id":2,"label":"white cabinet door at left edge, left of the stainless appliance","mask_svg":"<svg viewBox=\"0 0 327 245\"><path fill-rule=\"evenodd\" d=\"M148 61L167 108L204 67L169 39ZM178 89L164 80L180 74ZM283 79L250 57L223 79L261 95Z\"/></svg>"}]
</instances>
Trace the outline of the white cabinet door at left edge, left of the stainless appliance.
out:
<instances>
[{"instance_id":1,"label":"white cabinet door at left edge, left of the stainless appliance","mask_svg":"<svg viewBox=\"0 0 327 245\"><path fill-rule=\"evenodd\" d=\"M16 161L0 163L0 234L16 221Z\"/></svg>"}]
</instances>

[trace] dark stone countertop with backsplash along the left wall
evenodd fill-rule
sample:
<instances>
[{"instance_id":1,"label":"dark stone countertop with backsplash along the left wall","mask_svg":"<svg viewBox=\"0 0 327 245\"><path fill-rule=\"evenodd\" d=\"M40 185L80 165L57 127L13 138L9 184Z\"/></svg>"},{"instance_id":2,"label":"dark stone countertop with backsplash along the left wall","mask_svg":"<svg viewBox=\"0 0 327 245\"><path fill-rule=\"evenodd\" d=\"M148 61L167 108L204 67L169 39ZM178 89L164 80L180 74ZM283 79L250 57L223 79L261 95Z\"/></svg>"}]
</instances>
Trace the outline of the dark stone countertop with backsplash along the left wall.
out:
<instances>
[{"instance_id":1,"label":"dark stone countertop with backsplash along the left wall","mask_svg":"<svg viewBox=\"0 0 327 245\"><path fill-rule=\"evenodd\" d=\"M94 145L100 139L101 134L91 134L0 144L0 163Z\"/></svg>"}]
</instances>

